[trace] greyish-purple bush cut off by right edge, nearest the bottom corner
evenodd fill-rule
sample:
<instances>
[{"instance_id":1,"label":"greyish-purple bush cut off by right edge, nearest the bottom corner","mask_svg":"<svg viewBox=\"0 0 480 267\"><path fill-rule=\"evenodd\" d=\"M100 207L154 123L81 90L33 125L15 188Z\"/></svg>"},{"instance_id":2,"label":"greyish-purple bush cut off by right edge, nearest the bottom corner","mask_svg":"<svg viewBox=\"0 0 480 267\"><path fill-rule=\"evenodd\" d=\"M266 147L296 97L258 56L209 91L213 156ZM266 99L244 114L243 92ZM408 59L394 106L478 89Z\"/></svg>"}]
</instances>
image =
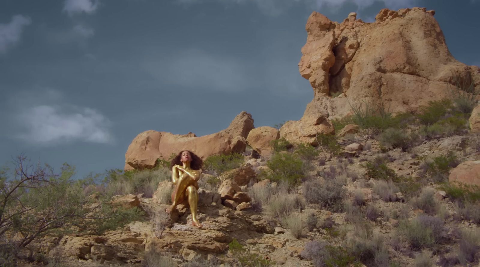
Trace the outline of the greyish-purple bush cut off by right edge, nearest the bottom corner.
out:
<instances>
[{"instance_id":1,"label":"greyish-purple bush cut off by right edge, nearest the bottom corner","mask_svg":"<svg viewBox=\"0 0 480 267\"><path fill-rule=\"evenodd\" d=\"M480 251L480 234L478 231L463 231L460 234L458 259L462 265L478 262Z\"/></svg>"}]
</instances>

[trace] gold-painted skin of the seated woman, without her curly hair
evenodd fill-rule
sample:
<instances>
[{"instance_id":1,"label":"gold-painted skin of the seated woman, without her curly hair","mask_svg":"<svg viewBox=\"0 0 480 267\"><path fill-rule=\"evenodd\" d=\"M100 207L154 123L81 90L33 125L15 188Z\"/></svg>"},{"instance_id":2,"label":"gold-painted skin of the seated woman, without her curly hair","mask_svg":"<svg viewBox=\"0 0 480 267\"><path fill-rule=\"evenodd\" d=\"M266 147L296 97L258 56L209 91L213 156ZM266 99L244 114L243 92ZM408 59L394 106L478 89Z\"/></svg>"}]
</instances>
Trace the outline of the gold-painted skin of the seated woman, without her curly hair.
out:
<instances>
[{"instance_id":1,"label":"gold-painted skin of the seated woman, without her curly hair","mask_svg":"<svg viewBox=\"0 0 480 267\"><path fill-rule=\"evenodd\" d=\"M172 182L176 185L172 193L172 205L167 212L173 211L183 200L188 199L190 211L192 212L192 225L202 227L197 220L197 203L198 203L198 179L200 171L190 167L192 155L189 151L182 151L180 161L182 166L174 165L172 167Z\"/></svg>"}]
</instances>

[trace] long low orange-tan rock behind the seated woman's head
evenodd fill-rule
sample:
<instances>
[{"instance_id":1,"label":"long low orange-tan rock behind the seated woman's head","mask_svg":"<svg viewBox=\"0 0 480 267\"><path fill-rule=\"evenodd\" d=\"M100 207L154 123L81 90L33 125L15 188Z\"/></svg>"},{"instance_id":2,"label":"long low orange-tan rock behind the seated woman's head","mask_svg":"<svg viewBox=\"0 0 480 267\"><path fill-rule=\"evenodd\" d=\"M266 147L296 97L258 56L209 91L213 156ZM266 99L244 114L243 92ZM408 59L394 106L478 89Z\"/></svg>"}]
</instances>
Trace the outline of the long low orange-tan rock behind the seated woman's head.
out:
<instances>
[{"instance_id":1,"label":"long low orange-tan rock behind the seated woman's head","mask_svg":"<svg viewBox=\"0 0 480 267\"><path fill-rule=\"evenodd\" d=\"M205 159L211 155L245 151L248 133L253 129L252 115L242 111L227 129L197 137L195 134L171 134L154 130L138 134L125 153L125 170L151 168L157 159L168 160L172 153L191 150Z\"/></svg>"}]
</instances>

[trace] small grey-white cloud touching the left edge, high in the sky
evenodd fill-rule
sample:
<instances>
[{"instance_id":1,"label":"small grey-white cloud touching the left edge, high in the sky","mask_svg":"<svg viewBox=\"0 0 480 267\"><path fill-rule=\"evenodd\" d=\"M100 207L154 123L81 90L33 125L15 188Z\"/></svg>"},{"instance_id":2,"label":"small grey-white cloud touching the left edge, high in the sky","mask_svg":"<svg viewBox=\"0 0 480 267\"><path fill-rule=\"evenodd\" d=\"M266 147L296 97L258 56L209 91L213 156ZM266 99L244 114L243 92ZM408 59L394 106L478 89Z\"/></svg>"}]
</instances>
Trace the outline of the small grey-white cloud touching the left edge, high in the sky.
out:
<instances>
[{"instance_id":1,"label":"small grey-white cloud touching the left edge, high in the sky","mask_svg":"<svg viewBox=\"0 0 480 267\"><path fill-rule=\"evenodd\" d=\"M31 23L30 18L15 15L7 24L0 24L0 53L5 53L8 48L20 41L24 26Z\"/></svg>"}]
</instances>

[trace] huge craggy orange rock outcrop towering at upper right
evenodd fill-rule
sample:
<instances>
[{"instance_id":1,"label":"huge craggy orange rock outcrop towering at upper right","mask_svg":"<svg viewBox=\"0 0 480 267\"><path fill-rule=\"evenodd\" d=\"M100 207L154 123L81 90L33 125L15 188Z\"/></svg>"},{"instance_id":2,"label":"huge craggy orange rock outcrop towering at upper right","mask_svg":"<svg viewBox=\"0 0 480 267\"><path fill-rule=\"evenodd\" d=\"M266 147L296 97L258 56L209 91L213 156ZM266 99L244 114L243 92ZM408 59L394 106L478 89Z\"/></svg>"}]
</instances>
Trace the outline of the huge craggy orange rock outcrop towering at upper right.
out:
<instances>
[{"instance_id":1,"label":"huge craggy orange rock outcrop towering at upper right","mask_svg":"<svg viewBox=\"0 0 480 267\"><path fill-rule=\"evenodd\" d=\"M299 63L314 90L310 106L330 119L347 115L360 100L376 106L382 99L392 112L415 111L447 97L458 81L473 78L478 89L479 67L456 61L433 14L383 9L373 23L357 20L356 13L338 23L313 12Z\"/></svg>"}]
</instances>

